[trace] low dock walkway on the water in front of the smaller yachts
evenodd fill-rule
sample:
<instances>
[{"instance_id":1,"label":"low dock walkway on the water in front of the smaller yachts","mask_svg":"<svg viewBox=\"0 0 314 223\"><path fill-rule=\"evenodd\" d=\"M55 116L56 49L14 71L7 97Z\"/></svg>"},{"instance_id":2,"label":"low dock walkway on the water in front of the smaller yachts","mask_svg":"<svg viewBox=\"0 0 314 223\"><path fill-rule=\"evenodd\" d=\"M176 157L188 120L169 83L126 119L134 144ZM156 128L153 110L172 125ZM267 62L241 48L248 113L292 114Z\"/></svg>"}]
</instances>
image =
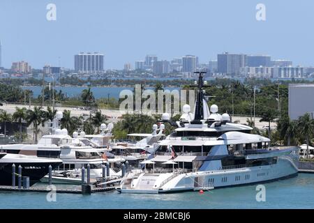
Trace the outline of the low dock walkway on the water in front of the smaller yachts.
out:
<instances>
[{"instance_id":1,"label":"low dock walkway on the water in front of the smaller yachts","mask_svg":"<svg viewBox=\"0 0 314 223\"><path fill-rule=\"evenodd\" d=\"M115 187L93 187L91 188L91 193L98 193L98 192L110 192L116 190ZM18 187L12 187L12 186L0 186L0 191L15 191L15 192L51 192L52 189L49 189L47 187L29 187L29 188L18 188ZM63 193L63 194L83 194L82 190L77 189L59 189L56 188L54 190L57 193Z\"/></svg>"}]
</instances>

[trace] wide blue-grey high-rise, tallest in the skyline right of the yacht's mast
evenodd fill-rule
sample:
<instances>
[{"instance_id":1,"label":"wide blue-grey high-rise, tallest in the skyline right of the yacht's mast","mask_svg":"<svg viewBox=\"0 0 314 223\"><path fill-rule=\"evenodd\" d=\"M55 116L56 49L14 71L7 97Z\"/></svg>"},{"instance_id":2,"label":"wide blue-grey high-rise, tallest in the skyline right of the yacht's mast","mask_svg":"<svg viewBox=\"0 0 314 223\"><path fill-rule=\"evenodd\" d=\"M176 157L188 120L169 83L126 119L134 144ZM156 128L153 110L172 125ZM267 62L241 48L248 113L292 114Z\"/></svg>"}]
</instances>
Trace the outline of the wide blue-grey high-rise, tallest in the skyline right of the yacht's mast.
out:
<instances>
[{"instance_id":1,"label":"wide blue-grey high-rise, tallest in the skyline right of the yacht's mast","mask_svg":"<svg viewBox=\"0 0 314 223\"><path fill-rule=\"evenodd\" d=\"M241 68L246 65L245 54L224 54L217 55L218 72L226 74L239 74Z\"/></svg>"}]
</instances>

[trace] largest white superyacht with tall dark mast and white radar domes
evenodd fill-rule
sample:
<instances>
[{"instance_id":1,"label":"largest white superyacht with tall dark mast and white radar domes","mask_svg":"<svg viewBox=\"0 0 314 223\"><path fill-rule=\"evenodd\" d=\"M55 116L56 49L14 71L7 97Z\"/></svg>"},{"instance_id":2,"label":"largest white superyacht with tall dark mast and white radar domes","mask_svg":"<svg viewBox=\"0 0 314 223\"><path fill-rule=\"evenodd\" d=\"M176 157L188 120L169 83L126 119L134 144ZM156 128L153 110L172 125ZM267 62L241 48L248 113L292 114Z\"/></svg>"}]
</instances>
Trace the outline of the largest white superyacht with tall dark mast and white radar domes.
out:
<instances>
[{"instance_id":1,"label":"largest white superyacht with tall dark mast and white radar domes","mask_svg":"<svg viewBox=\"0 0 314 223\"><path fill-rule=\"evenodd\" d=\"M270 139L232 123L228 114L210 109L204 96L204 72L198 72L194 114L184 105L180 121L168 114L161 122L177 129L160 141L144 171L126 174L119 192L162 193L211 190L297 176L299 147L272 147Z\"/></svg>"}]
</instances>

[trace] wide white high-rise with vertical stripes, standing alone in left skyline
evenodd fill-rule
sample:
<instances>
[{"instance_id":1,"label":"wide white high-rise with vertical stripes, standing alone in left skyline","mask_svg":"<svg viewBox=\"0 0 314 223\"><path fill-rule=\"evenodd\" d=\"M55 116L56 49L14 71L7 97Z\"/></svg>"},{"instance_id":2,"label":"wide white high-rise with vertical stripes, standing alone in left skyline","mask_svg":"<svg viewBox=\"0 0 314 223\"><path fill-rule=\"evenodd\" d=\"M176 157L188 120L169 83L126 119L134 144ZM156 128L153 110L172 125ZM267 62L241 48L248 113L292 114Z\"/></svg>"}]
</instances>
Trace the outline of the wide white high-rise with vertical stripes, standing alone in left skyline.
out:
<instances>
[{"instance_id":1,"label":"wide white high-rise with vertical stripes, standing alone in left skyline","mask_svg":"<svg viewBox=\"0 0 314 223\"><path fill-rule=\"evenodd\" d=\"M103 72L103 54L98 52L76 54L74 56L76 72Z\"/></svg>"}]
</instances>

